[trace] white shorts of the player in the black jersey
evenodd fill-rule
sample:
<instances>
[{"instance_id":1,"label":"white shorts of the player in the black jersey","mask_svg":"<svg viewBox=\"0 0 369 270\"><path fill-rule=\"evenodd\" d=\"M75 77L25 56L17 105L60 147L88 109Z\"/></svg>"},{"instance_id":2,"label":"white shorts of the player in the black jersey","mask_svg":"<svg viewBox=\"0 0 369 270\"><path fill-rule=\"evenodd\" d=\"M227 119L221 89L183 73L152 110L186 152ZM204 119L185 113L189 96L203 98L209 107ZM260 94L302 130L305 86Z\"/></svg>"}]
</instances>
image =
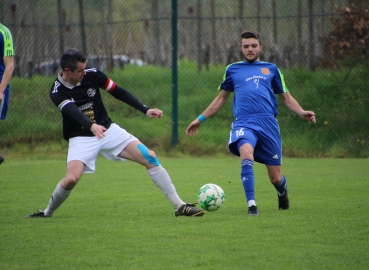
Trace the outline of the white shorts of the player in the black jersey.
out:
<instances>
[{"instance_id":1,"label":"white shorts of the player in the black jersey","mask_svg":"<svg viewBox=\"0 0 369 270\"><path fill-rule=\"evenodd\" d=\"M117 124L111 124L104 134L105 137L100 140L96 136L69 139L67 163L72 160L82 161L86 165L83 172L93 173L99 154L113 161L125 161L118 157L119 153L129 143L138 140Z\"/></svg>"}]
</instances>

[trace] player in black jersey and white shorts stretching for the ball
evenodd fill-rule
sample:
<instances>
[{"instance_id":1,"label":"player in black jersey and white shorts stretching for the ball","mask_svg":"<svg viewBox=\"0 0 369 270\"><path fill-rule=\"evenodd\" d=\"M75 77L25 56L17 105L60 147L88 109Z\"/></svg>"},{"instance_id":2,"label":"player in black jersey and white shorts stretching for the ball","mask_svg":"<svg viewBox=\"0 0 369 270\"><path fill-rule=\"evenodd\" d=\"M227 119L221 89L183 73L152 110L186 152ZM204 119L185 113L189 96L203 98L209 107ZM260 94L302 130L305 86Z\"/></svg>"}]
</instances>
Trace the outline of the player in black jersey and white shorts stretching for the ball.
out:
<instances>
[{"instance_id":1,"label":"player in black jersey and white shorts stretching for the ball","mask_svg":"<svg viewBox=\"0 0 369 270\"><path fill-rule=\"evenodd\" d=\"M51 87L50 98L63 117L63 136L69 143L67 171L57 184L47 208L26 217L51 217L68 198L82 174L95 171L99 154L110 160L128 159L143 165L173 205L175 216L202 216L202 209L186 204L178 196L155 152L110 119L101 100L100 89L150 118L160 118L163 112L146 107L103 72L86 69L86 56L77 49L68 49L61 57L60 66L62 70Z\"/></svg>"}]
</instances>

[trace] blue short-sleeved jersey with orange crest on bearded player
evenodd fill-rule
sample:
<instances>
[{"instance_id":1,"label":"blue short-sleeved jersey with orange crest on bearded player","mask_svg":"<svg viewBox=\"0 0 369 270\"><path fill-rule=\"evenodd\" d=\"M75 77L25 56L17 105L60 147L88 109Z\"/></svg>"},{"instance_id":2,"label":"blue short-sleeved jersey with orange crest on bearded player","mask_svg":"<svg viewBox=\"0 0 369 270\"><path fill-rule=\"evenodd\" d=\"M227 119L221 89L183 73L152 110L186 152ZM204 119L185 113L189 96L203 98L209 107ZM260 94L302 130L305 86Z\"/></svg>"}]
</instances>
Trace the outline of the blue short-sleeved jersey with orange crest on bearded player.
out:
<instances>
[{"instance_id":1,"label":"blue short-sleeved jersey with orange crest on bearded player","mask_svg":"<svg viewBox=\"0 0 369 270\"><path fill-rule=\"evenodd\" d=\"M278 67L268 62L246 61L230 64L219 90L234 92L233 116L242 119L251 115L278 115L275 94L288 89Z\"/></svg>"}]
</instances>

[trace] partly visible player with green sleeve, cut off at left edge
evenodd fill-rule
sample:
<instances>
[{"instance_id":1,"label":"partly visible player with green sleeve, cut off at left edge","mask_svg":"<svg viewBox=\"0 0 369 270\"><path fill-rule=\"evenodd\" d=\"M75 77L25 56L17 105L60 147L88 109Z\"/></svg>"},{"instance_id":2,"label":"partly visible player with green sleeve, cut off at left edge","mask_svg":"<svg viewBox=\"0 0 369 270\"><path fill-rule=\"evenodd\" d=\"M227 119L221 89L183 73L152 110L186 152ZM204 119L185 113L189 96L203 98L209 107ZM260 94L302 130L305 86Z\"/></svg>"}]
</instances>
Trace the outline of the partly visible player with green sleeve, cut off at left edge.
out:
<instances>
[{"instance_id":1,"label":"partly visible player with green sleeve, cut off at left edge","mask_svg":"<svg viewBox=\"0 0 369 270\"><path fill-rule=\"evenodd\" d=\"M9 82L14 71L14 46L10 30L0 23L0 120L5 119L8 111ZM4 157L0 155L0 164Z\"/></svg>"}]
</instances>

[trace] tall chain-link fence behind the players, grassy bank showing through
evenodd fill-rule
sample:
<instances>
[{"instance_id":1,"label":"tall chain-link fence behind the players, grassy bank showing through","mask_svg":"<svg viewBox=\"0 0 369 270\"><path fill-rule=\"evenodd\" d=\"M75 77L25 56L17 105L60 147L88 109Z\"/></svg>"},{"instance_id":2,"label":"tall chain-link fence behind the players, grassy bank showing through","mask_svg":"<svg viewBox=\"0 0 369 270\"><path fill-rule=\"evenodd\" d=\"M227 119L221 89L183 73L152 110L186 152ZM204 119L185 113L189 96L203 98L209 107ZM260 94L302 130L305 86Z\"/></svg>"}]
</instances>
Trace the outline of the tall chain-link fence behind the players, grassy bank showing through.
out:
<instances>
[{"instance_id":1,"label":"tall chain-link fence behind the players, grassy bank showing through","mask_svg":"<svg viewBox=\"0 0 369 270\"><path fill-rule=\"evenodd\" d=\"M86 53L88 66L105 71L144 103L157 106L166 114L162 120L143 120L139 114L125 108L124 114L115 119L112 117L114 121L139 138L144 138L148 145L161 145L167 149L173 147L169 143L173 141L173 85L170 73L173 1L2 0L0 22L13 34L16 68L11 81L7 119L0 123L0 147L61 138L61 117L51 104L48 91L60 69L58 59L70 47ZM334 6L343 7L346 2L176 2L179 123L175 124L178 124L179 140L175 146L187 148L194 143L192 138L184 135L188 119L193 120L217 95L225 67L242 60L240 33L253 29L262 36L261 60L277 64L292 95L305 109L317 113L318 123L312 126L280 109L285 153L300 156L298 149L311 148L315 156L367 157L368 126L363 127L360 121L367 117L369 104L364 101L361 106L354 105L357 99L363 98L360 92L365 87L363 78L355 79L355 87L360 93L352 97L353 104L347 106L347 110L342 109L329 118L332 115L329 114L329 106L335 100L329 98L332 103L326 103L328 99L325 99L329 95L337 97L334 95L335 86L325 83L327 77L337 76L333 81L342 85L346 76L321 66L321 59L327 58L329 52L322 39L329 36L331 18L337 16ZM157 89L158 84L161 89ZM317 89L319 86L324 91ZM341 91L344 92L344 89ZM181 100L186 99L189 93L193 99L182 103ZM198 93L206 93L207 100L200 101ZM119 110L121 105L113 98L104 99L108 111L114 113ZM232 121L229 103L219 117L206 122L206 127L202 127L205 135L199 139L200 144L187 148L189 151L196 153L202 142L214 142L205 153L228 151L227 139ZM358 115L360 121L348 118L350 114ZM130 121L130 118L138 121ZM158 121L164 124L158 127ZM364 126L366 124L368 122L364 122ZM340 127L345 132L337 133ZM153 133L147 135L143 132L145 129ZM321 137L325 139L321 140Z\"/></svg>"}]
</instances>

